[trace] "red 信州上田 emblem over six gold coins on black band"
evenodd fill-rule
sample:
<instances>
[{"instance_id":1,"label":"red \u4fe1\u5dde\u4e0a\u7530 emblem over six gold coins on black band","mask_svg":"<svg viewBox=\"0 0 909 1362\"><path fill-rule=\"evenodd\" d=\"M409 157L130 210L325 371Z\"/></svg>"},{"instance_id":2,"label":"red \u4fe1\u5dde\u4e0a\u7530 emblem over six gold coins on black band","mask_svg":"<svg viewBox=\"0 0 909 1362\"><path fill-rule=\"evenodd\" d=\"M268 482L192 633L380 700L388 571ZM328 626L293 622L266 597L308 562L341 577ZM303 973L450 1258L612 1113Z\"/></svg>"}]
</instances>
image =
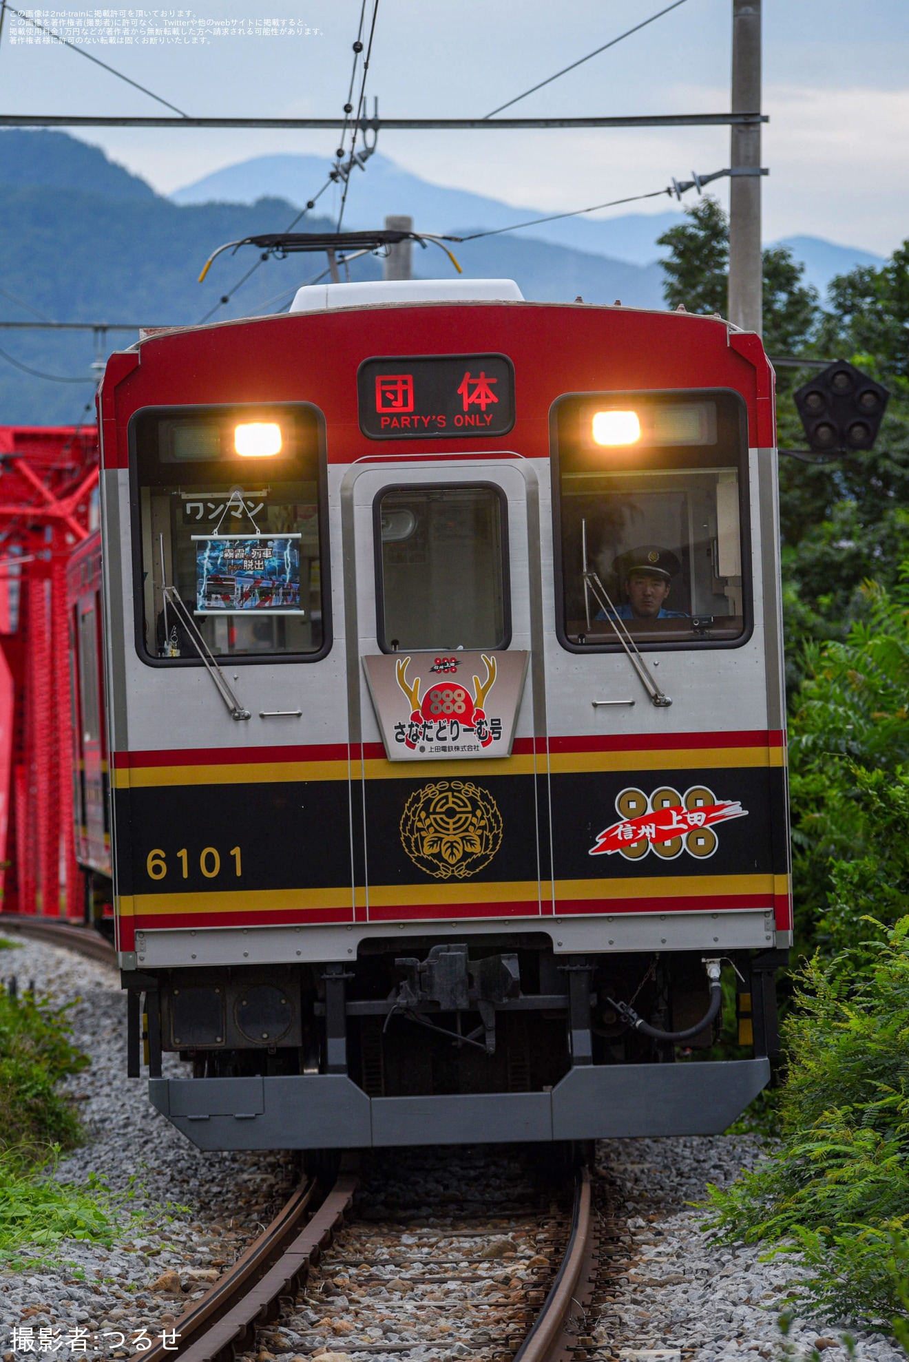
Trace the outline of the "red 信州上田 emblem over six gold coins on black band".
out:
<instances>
[{"instance_id":1,"label":"red \u4fe1\u5dde\u4e0a\u7530 emblem over six gold coins on black band","mask_svg":"<svg viewBox=\"0 0 909 1362\"><path fill-rule=\"evenodd\" d=\"M643 790L623 790L616 810L621 814L619 823L604 828L590 855L617 851L628 861L639 861L653 851L671 861L687 851L703 859L720 844L715 824L748 814L739 799L717 799L705 785L695 785L684 794L661 786L649 798Z\"/></svg>"}]
</instances>

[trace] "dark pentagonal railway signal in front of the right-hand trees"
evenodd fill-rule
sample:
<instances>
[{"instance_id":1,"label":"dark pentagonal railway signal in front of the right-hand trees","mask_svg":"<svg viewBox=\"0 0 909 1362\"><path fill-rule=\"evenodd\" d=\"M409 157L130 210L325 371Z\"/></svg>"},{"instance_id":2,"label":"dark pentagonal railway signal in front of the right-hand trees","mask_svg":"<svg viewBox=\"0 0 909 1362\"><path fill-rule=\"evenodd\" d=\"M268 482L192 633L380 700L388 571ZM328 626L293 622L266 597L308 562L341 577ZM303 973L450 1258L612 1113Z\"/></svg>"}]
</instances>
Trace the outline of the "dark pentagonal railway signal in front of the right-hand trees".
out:
<instances>
[{"instance_id":1,"label":"dark pentagonal railway signal in front of the right-hand trees","mask_svg":"<svg viewBox=\"0 0 909 1362\"><path fill-rule=\"evenodd\" d=\"M846 360L835 360L795 394L812 454L871 449L890 392Z\"/></svg>"}]
</instances>

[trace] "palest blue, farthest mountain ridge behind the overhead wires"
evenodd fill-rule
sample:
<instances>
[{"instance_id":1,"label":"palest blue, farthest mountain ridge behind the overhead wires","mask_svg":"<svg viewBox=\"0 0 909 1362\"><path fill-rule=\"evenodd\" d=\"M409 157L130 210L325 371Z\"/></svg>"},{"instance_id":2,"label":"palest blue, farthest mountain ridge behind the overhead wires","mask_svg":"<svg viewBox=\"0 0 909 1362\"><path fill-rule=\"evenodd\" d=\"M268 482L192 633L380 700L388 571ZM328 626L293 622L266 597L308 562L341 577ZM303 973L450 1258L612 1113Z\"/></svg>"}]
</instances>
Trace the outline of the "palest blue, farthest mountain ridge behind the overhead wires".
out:
<instances>
[{"instance_id":1,"label":"palest blue, farthest mountain ridge behind the overhead wires","mask_svg":"<svg viewBox=\"0 0 909 1362\"><path fill-rule=\"evenodd\" d=\"M331 162L324 157L255 157L215 170L177 189L170 197L174 203L255 203L263 195L271 195L303 207L326 183L330 168ZM609 197L609 188L596 183L585 192L594 202L597 195ZM576 204L579 208L583 206L583 200ZM331 191L319 200L319 208L331 214ZM376 153L367 162L365 172L353 173L345 222L350 227L376 227L392 212L410 214L414 226L424 232L455 232L470 222L484 227L507 227L514 222L545 217L541 208L514 207L466 189L431 184ZM605 221L563 218L561 222L530 227L529 234L590 255L646 266L660 255L657 237L677 221L679 210L651 215L634 212ZM512 240L519 240L519 236Z\"/></svg>"}]
</instances>

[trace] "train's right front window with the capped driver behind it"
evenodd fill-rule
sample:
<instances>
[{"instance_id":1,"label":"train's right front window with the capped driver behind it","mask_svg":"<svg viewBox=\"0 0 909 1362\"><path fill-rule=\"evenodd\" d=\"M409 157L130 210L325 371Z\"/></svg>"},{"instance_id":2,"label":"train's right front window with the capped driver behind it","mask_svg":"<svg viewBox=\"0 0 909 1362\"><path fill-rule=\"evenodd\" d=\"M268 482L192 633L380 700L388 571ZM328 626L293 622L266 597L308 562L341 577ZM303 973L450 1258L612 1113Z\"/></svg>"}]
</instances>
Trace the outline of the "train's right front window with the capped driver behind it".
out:
<instances>
[{"instance_id":1,"label":"train's right front window with the capped driver behind it","mask_svg":"<svg viewBox=\"0 0 909 1362\"><path fill-rule=\"evenodd\" d=\"M732 392L556 407L560 635L570 648L733 642L748 625L747 415Z\"/></svg>"}]
</instances>

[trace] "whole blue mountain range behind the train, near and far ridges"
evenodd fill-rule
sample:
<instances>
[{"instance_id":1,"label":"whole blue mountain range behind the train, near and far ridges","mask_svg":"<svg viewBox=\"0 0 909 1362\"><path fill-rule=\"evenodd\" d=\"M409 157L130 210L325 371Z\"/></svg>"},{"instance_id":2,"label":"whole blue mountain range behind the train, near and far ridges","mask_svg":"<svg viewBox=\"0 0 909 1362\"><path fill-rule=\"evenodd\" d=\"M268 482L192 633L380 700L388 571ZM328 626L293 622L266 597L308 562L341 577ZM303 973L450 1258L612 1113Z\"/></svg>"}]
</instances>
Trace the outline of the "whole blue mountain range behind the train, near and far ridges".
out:
<instances>
[{"instance_id":1,"label":"whole blue mountain range behind the train, near and far ridges","mask_svg":"<svg viewBox=\"0 0 909 1362\"><path fill-rule=\"evenodd\" d=\"M0 132L0 320L138 327L279 311L300 283L324 268L323 257L256 264L252 249L243 248L236 256L221 256L203 285L198 274L225 241L286 229L323 183L326 168L313 157L259 157L168 199L98 147L67 133ZM534 215L530 208L429 184L380 155L368 162L365 174L354 174L345 219L352 227L407 212L422 230L466 236L472 225L495 230ZM333 230L327 200L330 195L322 200L322 215L305 219L308 230ZM587 302L621 298L626 305L660 308L662 268L656 237L677 221L677 211L568 219L454 249L467 276L514 278L531 300L581 296ZM825 286L831 274L879 259L814 237L790 241L799 244L799 259L814 262L811 268ZM435 247L425 253L414 249L417 275L451 271ZM380 275L382 262L373 256L350 266L354 279ZM112 332L104 326L94 334L0 327L0 425L91 419L98 366L112 349L135 338L135 330Z\"/></svg>"}]
</instances>

